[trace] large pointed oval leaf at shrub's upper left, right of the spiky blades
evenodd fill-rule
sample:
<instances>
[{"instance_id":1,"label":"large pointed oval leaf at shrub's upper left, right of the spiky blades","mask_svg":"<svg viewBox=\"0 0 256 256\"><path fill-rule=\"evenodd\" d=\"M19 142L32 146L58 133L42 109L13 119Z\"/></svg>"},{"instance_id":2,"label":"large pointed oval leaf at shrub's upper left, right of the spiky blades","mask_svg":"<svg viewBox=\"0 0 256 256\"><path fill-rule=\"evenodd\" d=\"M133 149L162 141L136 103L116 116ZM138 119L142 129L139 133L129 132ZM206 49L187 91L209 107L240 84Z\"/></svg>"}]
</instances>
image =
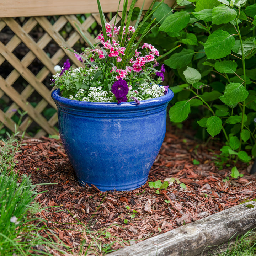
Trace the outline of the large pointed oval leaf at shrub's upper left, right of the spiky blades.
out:
<instances>
[{"instance_id":1,"label":"large pointed oval leaf at shrub's upper left, right of the spiky blades","mask_svg":"<svg viewBox=\"0 0 256 256\"><path fill-rule=\"evenodd\" d=\"M185 28L189 21L190 14L188 12L178 11L169 15L159 27L159 30L165 32L177 32Z\"/></svg>"}]
</instances>

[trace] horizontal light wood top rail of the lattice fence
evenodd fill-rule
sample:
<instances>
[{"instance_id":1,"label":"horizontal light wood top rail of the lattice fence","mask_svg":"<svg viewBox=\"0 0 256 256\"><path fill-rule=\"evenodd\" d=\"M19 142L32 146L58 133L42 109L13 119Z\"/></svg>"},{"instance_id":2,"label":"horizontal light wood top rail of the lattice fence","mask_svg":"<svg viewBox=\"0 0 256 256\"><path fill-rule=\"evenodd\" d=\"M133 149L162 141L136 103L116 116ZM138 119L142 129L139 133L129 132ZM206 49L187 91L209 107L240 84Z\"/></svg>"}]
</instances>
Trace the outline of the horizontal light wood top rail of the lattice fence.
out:
<instances>
[{"instance_id":1,"label":"horizontal light wood top rail of the lattice fence","mask_svg":"<svg viewBox=\"0 0 256 256\"><path fill-rule=\"evenodd\" d=\"M172 6L176 0L165 0L165 3ZM117 0L101 0L104 12L116 12L118 8ZM129 0L129 6L132 0ZM143 9L148 10L152 0L146 0ZM141 7L143 0L138 0L136 6ZM123 8L123 1L119 10ZM66 15L84 14L98 12L97 1L73 0L0 0L0 17L26 17L26 16L46 16L46 15Z\"/></svg>"}]
</instances>

